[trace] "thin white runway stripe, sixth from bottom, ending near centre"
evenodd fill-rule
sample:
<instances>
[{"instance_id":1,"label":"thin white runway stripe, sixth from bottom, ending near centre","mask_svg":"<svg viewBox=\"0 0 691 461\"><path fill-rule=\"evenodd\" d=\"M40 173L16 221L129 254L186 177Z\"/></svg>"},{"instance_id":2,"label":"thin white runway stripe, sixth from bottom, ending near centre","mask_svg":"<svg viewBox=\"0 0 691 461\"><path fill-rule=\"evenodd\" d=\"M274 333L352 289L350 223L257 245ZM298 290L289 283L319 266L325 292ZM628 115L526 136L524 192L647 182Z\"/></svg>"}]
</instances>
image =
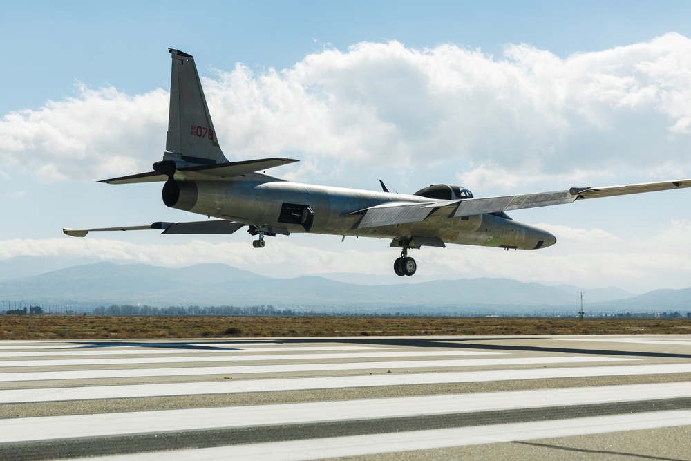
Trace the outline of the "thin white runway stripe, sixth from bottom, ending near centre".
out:
<instances>
[{"instance_id":1,"label":"thin white runway stripe, sixth from bottom, ending near centre","mask_svg":"<svg viewBox=\"0 0 691 461\"><path fill-rule=\"evenodd\" d=\"M206 347L209 347L207 345ZM216 347L216 346L214 346ZM375 346L285 346L268 348L223 348L223 349L187 349L187 348L68 348L68 350L48 350L42 352L0 352L0 357L70 357L84 355L159 355L159 354L238 354L238 353L263 353L263 352L318 352L319 350L382 350L383 347Z\"/></svg>"}]
</instances>

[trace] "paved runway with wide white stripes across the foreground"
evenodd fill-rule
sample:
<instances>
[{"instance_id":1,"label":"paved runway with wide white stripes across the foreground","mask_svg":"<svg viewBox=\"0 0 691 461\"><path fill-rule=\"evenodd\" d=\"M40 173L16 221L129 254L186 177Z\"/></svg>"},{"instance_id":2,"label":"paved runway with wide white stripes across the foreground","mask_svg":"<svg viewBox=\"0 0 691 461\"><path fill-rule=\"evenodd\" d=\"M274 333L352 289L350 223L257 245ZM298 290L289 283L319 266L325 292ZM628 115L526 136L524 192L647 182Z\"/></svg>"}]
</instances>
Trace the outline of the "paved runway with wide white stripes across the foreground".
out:
<instances>
[{"instance_id":1,"label":"paved runway with wide white stripes across the foreground","mask_svg":"<svg viewBox=\"0 0 691 461\"><path fill-rule=\"evenodd\" d=\"M691 337L0 341L3 460L691 460Z\"/></svg>"}]
</instances>

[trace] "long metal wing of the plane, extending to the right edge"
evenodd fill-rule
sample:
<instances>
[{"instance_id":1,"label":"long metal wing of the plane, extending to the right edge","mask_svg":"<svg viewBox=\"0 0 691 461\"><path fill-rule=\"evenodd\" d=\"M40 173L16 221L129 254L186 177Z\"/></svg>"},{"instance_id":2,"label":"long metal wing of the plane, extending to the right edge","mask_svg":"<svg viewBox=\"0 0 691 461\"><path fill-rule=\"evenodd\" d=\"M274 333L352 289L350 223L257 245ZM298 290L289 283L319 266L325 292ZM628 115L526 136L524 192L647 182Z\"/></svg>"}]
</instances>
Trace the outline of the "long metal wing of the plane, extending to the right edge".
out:
<instances>
[{"instance_id":1,"label":"long metal wing of the plane, extending to the right edge","mask_svg":"<svg viewBox=\"0 0 691 461\"><path fill-rule=\"evenodd\" d=\"M539 192L538 194L517 194L484 198L466 198L460 200L441 200L430 203L386 203L354 214L364 214L357 223L357 228L379 227L424 221L434 211L448 208L450 218L461 218L474 214L501 213L514 209L547 207L572 203L585 198L601 198L643 194L646 192L666 191L691 187L691 179L646 182L623 186L607 187L571 187L563 191ZM455 207L455 209L454 209Z\"/></svg>"}]
</instances>

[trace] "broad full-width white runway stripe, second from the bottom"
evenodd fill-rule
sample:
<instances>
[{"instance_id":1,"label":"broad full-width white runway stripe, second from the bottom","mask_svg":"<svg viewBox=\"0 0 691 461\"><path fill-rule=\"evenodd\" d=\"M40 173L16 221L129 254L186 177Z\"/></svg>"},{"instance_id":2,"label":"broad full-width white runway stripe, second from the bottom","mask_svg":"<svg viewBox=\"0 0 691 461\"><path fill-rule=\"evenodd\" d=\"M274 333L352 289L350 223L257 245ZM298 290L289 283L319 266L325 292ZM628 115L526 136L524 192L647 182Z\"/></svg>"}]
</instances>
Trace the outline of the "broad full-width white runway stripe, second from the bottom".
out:
<instances>
[{"instance_id":1,"label":"broad full-width white runway stripe, second from the bottom","mask_svg":"<svg viewBox=\"0 0 691 461\"><path fill-rule=\"evenodd\" d=\"M27 442L73 437L87 438L105 435L448 415L514 408L547 408L550 406L638 400L650 401L690 396L691 386L688 383L675 382L223 408L187 408L96 415L23 417L0 420L0 434L3 442ZM691 424L691 419L686 424Z\"/></svg>"}]
</instances>

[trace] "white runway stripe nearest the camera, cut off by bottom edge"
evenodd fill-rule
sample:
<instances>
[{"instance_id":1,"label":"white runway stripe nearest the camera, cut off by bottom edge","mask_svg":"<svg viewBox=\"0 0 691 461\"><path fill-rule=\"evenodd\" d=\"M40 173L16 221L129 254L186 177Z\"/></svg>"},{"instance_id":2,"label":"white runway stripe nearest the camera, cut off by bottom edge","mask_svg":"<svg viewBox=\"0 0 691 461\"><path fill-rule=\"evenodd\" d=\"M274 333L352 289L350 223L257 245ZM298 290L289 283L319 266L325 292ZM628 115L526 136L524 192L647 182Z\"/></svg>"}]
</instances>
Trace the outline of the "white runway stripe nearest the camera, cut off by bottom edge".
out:
<instances>
[{"instance_id":1,"label":"white runway stripe nearest the camera, cut off by bottom edge","mask_svg":"<svg viewBox=\"0 0 691 461\"><path fill-rule=\"evenodd\" d=\"M103 461L308 461L345 456L399 453L519 440L574 437L663 427L688 426L691 411L659 411L570 420L522 422L471 426L434 431L410 431L352 437L291 440L252 445L218 446L205 449L159 451L128 455L82 458ZM72 459L72 458L70 458ZM74 461L74 460L73 460Z\"/></svg>"}]
</instances>

